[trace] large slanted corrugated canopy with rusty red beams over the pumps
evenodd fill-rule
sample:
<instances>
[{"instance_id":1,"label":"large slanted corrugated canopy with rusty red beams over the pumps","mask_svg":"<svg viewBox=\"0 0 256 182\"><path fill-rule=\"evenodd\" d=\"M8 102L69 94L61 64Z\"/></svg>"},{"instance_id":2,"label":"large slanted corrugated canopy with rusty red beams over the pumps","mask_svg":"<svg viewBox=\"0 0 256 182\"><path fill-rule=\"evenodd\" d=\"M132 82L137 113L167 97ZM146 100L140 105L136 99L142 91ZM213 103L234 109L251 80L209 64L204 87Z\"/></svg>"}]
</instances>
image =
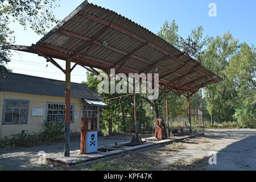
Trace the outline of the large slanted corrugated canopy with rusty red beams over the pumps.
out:
<instances>
[{"instance_id":1,"label":"large slanted corrugated canopy with rusty red beams over the pumps","mask_svg":"<svg viewBox=\"0 0 256 182\"><path fill-rule=\"evenodd\" d=\"M221 81L200 61L172 46L151 31L115 13L84 1L77 9L32 46L11 49L37 53L55 64L71 58L73 63L115 73L155 73L159 84L178 95L195 93ZM95 70L94 70L95 71Z\"/></svg>"}]
</instances>

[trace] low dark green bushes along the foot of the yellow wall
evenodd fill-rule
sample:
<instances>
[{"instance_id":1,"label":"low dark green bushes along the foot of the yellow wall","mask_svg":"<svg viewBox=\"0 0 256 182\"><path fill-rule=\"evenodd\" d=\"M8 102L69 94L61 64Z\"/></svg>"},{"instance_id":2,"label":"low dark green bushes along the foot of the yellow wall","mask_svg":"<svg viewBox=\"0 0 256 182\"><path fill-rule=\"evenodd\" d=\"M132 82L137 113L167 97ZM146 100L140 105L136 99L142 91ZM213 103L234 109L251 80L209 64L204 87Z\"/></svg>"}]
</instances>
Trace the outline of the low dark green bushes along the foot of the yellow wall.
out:
<instances>
[{"instance_id":1,"label":"low dark green bushes along the foot of the yellow wall","mask_svg":"<svg viewBox=\"0 0 256 182\"><path fill-rule=\"evenodd\" d=\"M64 123L45 123L46 130L42 133L29 134L26 131L24 134L14 134L12 138L5 137L0 140L0 148L3 147L32 147L39 144L56 142L60 136L64 134Z\"/></svg>"}]
</instances>

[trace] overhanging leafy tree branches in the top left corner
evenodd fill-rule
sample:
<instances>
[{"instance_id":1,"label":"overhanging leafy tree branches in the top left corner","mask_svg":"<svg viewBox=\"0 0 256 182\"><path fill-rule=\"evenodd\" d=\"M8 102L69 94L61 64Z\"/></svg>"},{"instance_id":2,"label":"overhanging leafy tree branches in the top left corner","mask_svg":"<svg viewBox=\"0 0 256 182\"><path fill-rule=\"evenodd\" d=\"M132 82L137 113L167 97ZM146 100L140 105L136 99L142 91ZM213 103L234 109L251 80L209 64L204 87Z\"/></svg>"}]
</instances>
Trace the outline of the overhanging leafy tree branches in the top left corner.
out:
<instances>
[{"instance_id":1,"label":"overhanging leafy tree branches in the top left corner","mask_svg":"<svg viewBox=\"0 0 256 182\"><path fill-rule=\"evenodd\" d=\"M0 71L11 71L5 67L10 61L10 51L6 47L15 43L10 23L18 22L25 30L30 27L36 34L46 34L54 23L59 22L52 13L59 6L57 1L0 0Z\"/></svg>"}]
</instances>

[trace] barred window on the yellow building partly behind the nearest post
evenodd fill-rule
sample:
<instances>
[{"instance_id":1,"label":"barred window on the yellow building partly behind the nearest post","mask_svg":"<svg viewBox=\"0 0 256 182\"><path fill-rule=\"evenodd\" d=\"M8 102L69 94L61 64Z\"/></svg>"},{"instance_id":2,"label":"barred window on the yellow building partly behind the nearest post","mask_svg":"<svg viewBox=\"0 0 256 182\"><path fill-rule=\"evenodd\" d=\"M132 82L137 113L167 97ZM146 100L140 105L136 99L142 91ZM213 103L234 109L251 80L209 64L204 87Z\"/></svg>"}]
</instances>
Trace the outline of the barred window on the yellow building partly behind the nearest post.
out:
<instances>
[{"instance_id":1,"label":"barred window on the yellow building partly behind the nearest post","mask_svg":"<svg viewBox=\"0 0 256 182\"><path fill-rule=\"evenodd\" d=\"M70 121L73 122L73 105L70 109ZM49 103L47 104L46 122L64 122L65 121L65 104Z\"/></svg>"}]
</instances>

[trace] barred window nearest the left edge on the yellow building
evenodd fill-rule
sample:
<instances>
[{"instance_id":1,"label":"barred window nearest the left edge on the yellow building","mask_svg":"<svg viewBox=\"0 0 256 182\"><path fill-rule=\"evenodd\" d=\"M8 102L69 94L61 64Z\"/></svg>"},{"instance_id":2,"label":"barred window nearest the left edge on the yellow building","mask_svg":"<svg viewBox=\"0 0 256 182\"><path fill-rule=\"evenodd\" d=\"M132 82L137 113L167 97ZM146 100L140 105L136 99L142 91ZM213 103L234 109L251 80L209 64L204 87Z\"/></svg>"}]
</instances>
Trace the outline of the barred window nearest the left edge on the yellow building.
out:
<instances>
[{"instance_id":1,"label":"barred window nearest the left edge on the yellow building","mask_svg":"<svg viewBox=\"0 0 256 182\"><path fill-rule=\"evenodd\" d=\"M28 101L5 100L4 124L26 124Z\"/></svg>"}]
</instances>

